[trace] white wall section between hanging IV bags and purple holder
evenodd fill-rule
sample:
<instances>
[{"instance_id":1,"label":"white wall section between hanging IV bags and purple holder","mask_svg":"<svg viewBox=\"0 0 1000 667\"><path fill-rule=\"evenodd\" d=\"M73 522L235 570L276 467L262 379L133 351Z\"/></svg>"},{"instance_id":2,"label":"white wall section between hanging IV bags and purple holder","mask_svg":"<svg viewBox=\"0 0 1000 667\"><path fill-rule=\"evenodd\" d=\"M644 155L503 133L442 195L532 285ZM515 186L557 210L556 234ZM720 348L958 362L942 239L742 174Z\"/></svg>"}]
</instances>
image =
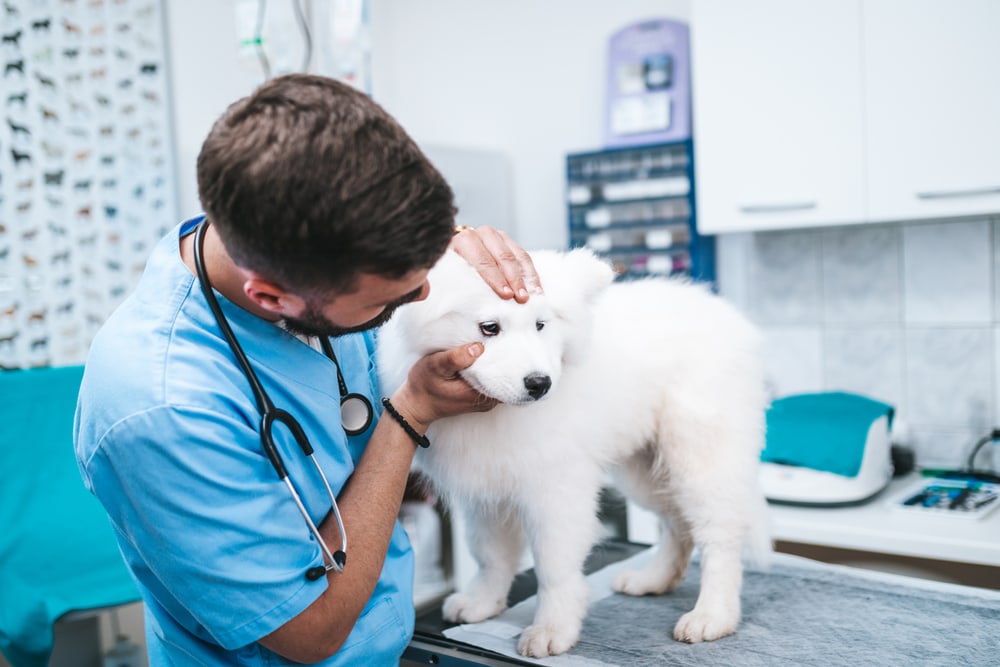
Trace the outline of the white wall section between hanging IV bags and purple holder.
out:
<instances>
[{"instance_id":1,"label":"white wall section between hanging IV bags and purple holder","mask_svg":"<svg viewBox=\"0 0 1000 667\"><path fill-rule=\"evenodd\" d=\"M566 245L566 153L601 148L608 38L690 0L372 0L372 93L421 144L512 166L518 241Z\"/></svg>"}]
</instances>

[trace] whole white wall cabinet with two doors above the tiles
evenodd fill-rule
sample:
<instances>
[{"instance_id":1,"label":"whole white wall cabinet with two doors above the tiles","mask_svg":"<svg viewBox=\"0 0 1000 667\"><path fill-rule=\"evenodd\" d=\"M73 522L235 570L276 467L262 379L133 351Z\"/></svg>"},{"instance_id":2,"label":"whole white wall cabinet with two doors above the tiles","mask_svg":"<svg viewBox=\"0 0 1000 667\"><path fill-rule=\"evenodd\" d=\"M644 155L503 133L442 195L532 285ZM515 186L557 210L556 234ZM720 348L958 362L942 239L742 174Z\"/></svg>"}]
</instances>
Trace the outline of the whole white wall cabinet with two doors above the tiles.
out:
<instances>
[{"instance_id":1,"label":"whole white wall cabinet with two doors above the tiles","mask_svg":"<svg viewBox=\"0 0 1000 667\"><path fill-rule=\"evenodd\" d=\"M1000 211L1000 2L693 0L702 234Z\"/></svg>"}]
</instances>

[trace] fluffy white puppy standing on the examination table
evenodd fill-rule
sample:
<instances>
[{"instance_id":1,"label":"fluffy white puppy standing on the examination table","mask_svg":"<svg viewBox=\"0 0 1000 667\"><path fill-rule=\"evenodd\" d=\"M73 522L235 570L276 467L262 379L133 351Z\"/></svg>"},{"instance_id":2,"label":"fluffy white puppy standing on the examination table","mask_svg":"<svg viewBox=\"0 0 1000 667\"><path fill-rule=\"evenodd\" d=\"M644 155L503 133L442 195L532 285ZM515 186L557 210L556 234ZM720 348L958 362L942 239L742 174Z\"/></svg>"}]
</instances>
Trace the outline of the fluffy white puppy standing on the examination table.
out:
<instances>
[{"instance_id":1,"label":"fluffy white puppy standing on the examination table","mask_svg":"<svg viewBox=\"0 0 1000 667\"><path fill-rule=\"evenodd\" d=\"M587 613L583 564L601 536L598 496L610 473L662 523L653 559L622 573L615 590L673 590L697 547L698 599L673 636L731 634L742 557L770 549L757 486L766 409L758 332L701 285L616 283L582 249L531 256L545 294L518 304L447 253L429 297L400 308L378 336L386 394L419 357L481 341L485 352L462 376L501 402L435 422L430 448L418 452L416 467L465 512L479 565L445 600L445 618L476 623L503 611L526 541L538 605L518 651L569 650Z\"/></svg>"}]
</instances>

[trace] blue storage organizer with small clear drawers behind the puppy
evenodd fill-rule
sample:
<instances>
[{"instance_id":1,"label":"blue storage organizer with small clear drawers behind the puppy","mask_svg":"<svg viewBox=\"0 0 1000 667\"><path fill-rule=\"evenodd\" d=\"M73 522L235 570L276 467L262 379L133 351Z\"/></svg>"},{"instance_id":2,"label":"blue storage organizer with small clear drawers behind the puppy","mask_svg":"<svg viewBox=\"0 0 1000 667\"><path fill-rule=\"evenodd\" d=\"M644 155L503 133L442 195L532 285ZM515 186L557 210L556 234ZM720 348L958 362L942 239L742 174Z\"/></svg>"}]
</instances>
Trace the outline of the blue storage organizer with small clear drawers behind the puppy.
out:
<instances>
[{"instance_id":1,"label":"blue storage organizer with small clear drawers behind the puppy","mask_svg":"<svg viewBox=\"0 0 1000 667\"><path fill-rule=\"evenodd\" d=\"M570 247L587 246L622 279L715 282L715 238L698 234L690 140L566 157Z\"/></svg>"}]
</instances>

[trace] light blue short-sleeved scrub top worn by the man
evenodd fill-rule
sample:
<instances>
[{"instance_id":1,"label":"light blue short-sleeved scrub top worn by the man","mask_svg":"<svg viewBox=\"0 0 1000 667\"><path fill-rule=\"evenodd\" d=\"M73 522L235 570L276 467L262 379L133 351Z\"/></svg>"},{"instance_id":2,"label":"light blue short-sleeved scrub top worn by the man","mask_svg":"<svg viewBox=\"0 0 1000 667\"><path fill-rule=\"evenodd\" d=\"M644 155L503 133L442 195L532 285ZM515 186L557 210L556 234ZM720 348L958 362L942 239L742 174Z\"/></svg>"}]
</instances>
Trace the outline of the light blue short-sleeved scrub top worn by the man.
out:
<instances>
[{"instance_id":1,"label":"light blue short-sleeved scrub top worn by the man","mask_svg":"<svg viewBox=\"0 0 1000 667\"><path fill-rule=\"evenodd\" d=\"M256 642L326 590L326 577L305 578L323 558L263 451L249 384L181 261L179 238L200 220L160 241L95 337L76 454L142 593L151 665L281 665ZM374 426L348 437L333 363L216 296L271 400L302 425L339 494ZM381 407L371 335L331 342L348 390ZM326 491L291 435L276 428L275 436L318 525L330 510ZM350 534L347 553L350 567ZM322 664L398 664L413 631L412 589L413 552L397 522L364 613Z\"/></svg>"}]
</instances>

